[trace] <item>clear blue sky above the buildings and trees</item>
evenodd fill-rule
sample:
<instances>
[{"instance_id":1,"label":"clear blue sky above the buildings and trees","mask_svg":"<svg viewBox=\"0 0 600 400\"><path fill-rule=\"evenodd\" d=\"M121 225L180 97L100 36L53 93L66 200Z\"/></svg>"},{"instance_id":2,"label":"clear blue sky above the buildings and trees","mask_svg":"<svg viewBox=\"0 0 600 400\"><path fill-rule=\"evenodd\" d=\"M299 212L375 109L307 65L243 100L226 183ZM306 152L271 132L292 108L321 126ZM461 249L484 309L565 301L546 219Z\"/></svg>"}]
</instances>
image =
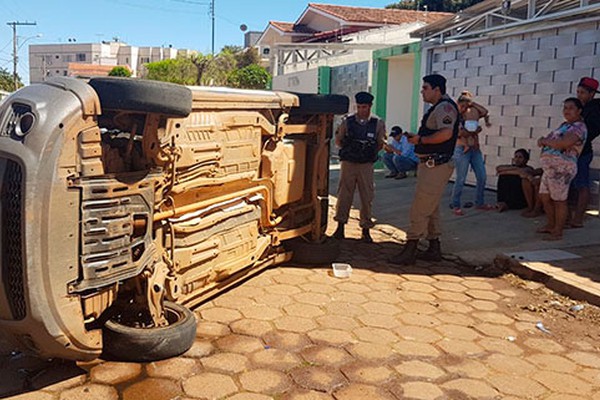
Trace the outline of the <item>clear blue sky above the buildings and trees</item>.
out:
<instances>
[{"instance_id":1,"label":"clear blue sky above the buildings and trees","mask_svg":"<svg viewBox=\"0 0 600 400\"><path fill-rule=\"evenodd\" d=\"M17 27L18 73L28 82L29 44L98 43L118 38L132 46L169 46L211 51L211 0L0 0L0 68L12 72ZM215 51L244 44L242 24L262 31L269 21L295 22L310 0L214 0ZM394 0L317 0L315 3L383 8Z\"/></svg>"}]
</instances>

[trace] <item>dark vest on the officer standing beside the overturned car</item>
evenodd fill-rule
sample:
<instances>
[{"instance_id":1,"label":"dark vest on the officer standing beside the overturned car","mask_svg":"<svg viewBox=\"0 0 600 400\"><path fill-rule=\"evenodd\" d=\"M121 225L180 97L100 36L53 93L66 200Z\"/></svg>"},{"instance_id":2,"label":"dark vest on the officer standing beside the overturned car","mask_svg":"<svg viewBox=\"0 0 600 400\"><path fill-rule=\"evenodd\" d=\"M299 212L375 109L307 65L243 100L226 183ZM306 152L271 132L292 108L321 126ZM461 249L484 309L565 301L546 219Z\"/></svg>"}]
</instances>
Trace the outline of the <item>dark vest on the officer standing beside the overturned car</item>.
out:
<instances>
[{"instance_id":1,"label":"dark vest on the officer standing beside the overturned car","mask_svg":"<svg viewBox=\"0 0 600 400\"><path fill-rule=\"evenodd\" d=\"M366 125L361 125L356 116L351 115L346 119L346 127L340 160L360 164L377 161L377 118L372 117Z\"/></svg>"}]
</instances>

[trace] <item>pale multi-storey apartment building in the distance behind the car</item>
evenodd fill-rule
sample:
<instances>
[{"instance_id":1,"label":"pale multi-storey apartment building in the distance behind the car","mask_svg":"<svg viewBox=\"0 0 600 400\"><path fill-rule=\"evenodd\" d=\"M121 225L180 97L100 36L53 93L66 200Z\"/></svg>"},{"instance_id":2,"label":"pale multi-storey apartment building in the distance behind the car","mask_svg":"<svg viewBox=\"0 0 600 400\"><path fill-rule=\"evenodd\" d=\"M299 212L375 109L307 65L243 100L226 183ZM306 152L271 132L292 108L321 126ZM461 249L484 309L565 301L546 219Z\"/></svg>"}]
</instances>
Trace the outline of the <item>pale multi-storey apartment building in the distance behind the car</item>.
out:
<instances>
[{"instance_id":1,"label":"pale multi-storey apartment building in the distance behind the car","mask_svg":"<svg viewBox=\"0 0 600 400\"><path fill-rule=\"evenodd\" d=\"M43 82L53 76L79 76L77 67L92 64L103 67L125 66L139 76L143 65L189 55L193 51L169 47L137 47L120 41L100 43L32 44L29 46L29 81ZM98 73L107 68L98 68ZM108 69L110 71L110 69Z\"/></svg>"}]
</instances>

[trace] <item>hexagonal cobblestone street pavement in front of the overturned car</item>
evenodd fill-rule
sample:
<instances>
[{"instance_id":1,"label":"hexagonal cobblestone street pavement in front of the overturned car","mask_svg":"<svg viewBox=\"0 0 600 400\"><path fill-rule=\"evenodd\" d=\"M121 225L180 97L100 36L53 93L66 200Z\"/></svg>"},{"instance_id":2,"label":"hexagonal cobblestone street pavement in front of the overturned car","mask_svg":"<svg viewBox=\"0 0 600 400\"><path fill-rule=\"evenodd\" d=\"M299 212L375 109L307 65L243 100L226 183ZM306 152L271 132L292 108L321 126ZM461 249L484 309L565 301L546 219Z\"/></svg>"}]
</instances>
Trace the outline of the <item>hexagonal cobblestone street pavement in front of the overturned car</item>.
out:
<instances>
[{"instance_id":1,"label":"hexagonal cobblestone street pavement in front of the overturned car","mask_svg":"<svg viewBox=\"0 0 600 400\"><path fill-rule=\"evenodd\" d=\"M281 266L202 305L197 340L181 357L145 365L4 358L0 397L600 400L597 324L541 314L535 302L552 302L485 269L390 269L398 247L375 239L342 244L349 279Z\"/></svg>"}]
</instances>

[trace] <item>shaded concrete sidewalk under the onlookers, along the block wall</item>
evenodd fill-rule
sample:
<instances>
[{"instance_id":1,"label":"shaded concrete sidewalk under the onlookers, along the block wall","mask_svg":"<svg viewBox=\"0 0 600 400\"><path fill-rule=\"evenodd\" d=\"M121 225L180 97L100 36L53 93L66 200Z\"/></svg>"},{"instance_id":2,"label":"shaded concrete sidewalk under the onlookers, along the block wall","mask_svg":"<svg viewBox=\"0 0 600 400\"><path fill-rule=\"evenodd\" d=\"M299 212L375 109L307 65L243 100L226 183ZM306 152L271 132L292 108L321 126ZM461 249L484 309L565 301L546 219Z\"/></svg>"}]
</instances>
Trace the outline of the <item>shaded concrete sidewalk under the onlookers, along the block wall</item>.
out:
<instances>
[{"instance_id":1,"label":"shaded concrete sidewalk under the onlookers, along the block wall","mask_svg":"<svg viewBox=\"0 0 600 400\"><path fill-rule=\"evenodd\" d=\"M416 178L385 179L387 171L375 172L373 215L376 229L394 239L404 240ZM339 170L332 168L330 192L335 196ZM442 249L469 264L496 263L528 279L543 282L551 289L574 299L600 305L600 219L588 217L585 228L566 230L558 242L542 240L535 230L545 216L528 219L520 211L478 211L464 209L455 216L449 208L452 183L440 205L443 223ZM486 191L486 203L495 204L496 193ZM473 201L475 189L465 187L462 201ZM358 206L358 195L355 205Z\"/></svg>"}]
</instances>

